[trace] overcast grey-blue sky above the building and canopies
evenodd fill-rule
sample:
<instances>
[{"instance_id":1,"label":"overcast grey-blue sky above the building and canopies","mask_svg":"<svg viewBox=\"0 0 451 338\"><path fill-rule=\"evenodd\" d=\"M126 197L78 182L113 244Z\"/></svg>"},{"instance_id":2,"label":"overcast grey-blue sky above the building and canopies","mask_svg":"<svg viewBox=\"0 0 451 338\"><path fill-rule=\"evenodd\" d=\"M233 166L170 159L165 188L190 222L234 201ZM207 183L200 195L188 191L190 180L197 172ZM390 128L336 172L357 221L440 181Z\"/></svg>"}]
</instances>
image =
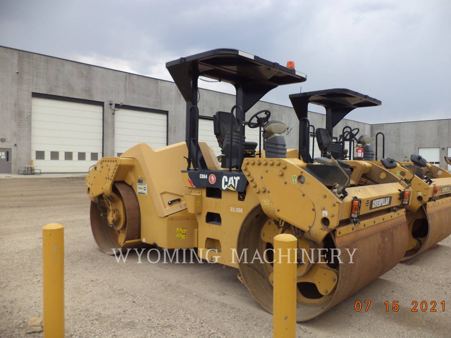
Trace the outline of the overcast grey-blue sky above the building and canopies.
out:
<instances>
[{"instance_id":1,"label":"overcast grey-blue sky above the building and canopies","mask_svg":"<svg viewBox=\"0 0 451 338\"><path fill-rule=\"evenodd\" d=\"M382 100L350 119L451 118L449 0L0 0L0 45L166 80L166 61L236 48L294 60L307 74L302 91L344 87ZM263 100L291 106L300 86Z\"/></svg>"}]
</instances>

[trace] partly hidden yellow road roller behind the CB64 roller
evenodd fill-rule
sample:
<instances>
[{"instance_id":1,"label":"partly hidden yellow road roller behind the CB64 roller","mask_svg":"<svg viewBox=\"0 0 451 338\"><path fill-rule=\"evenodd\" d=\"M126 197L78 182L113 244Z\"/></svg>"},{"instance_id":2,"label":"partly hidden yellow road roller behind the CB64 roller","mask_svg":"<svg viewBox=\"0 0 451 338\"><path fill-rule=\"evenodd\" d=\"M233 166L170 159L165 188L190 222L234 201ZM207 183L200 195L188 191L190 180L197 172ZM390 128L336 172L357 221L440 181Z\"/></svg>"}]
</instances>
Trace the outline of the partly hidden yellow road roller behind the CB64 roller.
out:
<instances>
[{"instance_id":1,"label":"partly hidden yellow road roller behind the CB64 roller","mask_svg":"<svg viewBox=\"0 0 451 338\"><path fill-rule=\"evenodd\" d=\"M407 184L412 190L410 203L405 206L409 228L409 242L403 260L412 258L451 234L451 174L446 170L428 163L419 155L411 155L410 162L397 162L384 158L375 161L375 153L371 145L372 139L368 135L359 136L359 128L345 126L336 141L332 141L333 128L345 118L350 111L380 105L382 102L366 95L344 88L311 91L290 95L291 103L299 118L299 153L306 162L312 160L309 153L309 134L313 130L316 134L318 147L322 154L330 153L336 159L345 160L350 165L351 185L366 185L386 183L396 179ZM326 128L311 126L307 119L308 104L321 105L326 110ZM382 133L379 133L382 134ZM326 136L324 136L326 135ZM377 137L377 136L376 136ZM382 134L382 140L385 138ZM325 142L326 140L326 142ZM327 142L327 140L329 140ZM347 143L349 142L349 143ZM349 151L345 149L348 144ZM354 154L355 145L362 147L361 154ZM385 142L382 142L382 154ZM313 151L314 148L312 148ZM382 155L383 156L383 155ZM351 160L357 158L358 160ZM445 157L446 162L451 159ZM392 175L381 178L378 182L368 178L365 173L371 173L374 166L387 169ZM359 182L353 179L357 172L362 172Z\"/></svg>"}]
</instances>

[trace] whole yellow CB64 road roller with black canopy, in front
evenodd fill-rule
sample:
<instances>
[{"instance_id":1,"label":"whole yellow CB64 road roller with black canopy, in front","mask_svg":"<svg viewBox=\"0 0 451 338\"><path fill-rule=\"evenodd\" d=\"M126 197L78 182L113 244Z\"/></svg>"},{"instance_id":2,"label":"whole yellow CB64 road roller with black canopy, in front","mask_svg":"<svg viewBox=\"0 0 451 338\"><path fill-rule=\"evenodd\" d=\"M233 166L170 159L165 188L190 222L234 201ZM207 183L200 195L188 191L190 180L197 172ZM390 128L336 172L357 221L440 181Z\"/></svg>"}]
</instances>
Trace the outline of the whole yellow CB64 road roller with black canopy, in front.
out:
<instances>
[{"instance_id":1,"label":"whole yellow CB64 road roller with black canopy, in front","mask_svg":"<svg viewBox=\"0 0 451 338\"><path fill-rule=\"evenodd\" d=\"M412 196L405 180L365 161L353 169L329 154L309 163L299 150L287 151L286 125L269 110L246 120L267 92L306 80L292 62L216 49L166 68L186 101L185 142L159 149L141 143L90 170L91 227L102 251L142 243L196 248L204 260L239 269L239 280L272 312L273 238L291 233L298 238L298 321L327 311L404 257ZM212 112L221 161L198 142L199 76L236 88L230 111ZM246 124L262 128L262 149L246 141Z\"/></svg>"}]
</instances>

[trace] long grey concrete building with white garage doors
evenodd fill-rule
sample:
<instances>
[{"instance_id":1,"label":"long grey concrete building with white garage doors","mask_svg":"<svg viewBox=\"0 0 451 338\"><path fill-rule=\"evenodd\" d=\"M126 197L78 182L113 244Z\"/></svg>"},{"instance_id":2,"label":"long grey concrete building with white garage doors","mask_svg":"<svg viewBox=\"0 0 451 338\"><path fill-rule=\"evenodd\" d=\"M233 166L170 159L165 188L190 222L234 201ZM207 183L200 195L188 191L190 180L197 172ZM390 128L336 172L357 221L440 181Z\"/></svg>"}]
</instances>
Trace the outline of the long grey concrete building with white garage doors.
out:
<instances>
[{"instance_id":1,"label":"long grey concrete building with white garage doors","mask_svg":"<svg viewBox=\"0 0 451 338\"><path fill-rule=\"evenodd\" d=\"M229 111L235 97L199 91L205 117L199 140L217 151L208 118ZM294 110L260 101L247 116L262 109L287 124L287 146L297 148ZM308 118L316 127L325 125L323 114L311 112ZM373 139L384 132L385 155L396 159L420 152L445 168L443 155L451 155L451 119L373 125L343 120L335 135L345 125ZM173 82L0 46L0 173L17 173L30 160L43 173L87 172L102 156L140 142L152 147L182 142L184 131L185 102ZM257 141L258 132L248 130L246 137Z\"/></svg>"}]
</instances>

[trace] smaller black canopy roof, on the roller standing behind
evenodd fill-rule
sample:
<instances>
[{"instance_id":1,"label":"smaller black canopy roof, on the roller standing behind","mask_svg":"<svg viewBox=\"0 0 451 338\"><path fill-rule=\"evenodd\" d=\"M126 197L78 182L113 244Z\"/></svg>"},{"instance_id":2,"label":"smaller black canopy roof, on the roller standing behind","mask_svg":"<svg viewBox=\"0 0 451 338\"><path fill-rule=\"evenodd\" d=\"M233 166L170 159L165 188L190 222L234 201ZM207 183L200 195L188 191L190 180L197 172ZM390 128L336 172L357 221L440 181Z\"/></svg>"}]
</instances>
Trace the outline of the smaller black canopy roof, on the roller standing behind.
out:
<instances>
[{"instance_id":1,"label":"smaller black canopy roof, on the roller standing behind","mask_svg":"<svg viewBox=\"0 0 451 338\"><path fill-rule=\"evenodd\" d=\"M307 118L308 104L322 105L326 108L326 129L332 135L332 129L355 108L381 105L382 101L371 96L346 88L307 91L291 94L291 104L298 119Z\"/></svg>"}]
</instances>

